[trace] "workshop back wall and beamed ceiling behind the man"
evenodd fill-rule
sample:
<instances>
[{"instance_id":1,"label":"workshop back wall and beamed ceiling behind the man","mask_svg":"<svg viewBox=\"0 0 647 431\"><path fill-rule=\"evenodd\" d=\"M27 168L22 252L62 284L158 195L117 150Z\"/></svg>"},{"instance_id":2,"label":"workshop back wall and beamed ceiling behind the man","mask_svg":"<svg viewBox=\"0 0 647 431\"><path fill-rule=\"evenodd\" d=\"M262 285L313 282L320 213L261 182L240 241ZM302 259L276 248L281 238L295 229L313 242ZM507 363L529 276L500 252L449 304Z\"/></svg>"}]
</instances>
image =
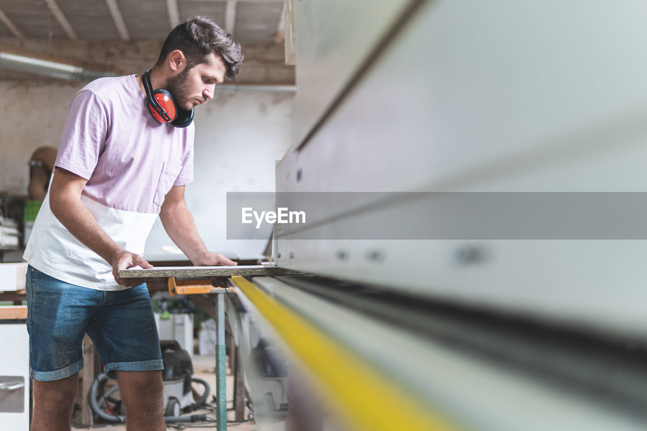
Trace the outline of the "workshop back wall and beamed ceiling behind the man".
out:
<instances>
[{"instance_id":1,"label":"workshop back wall and beamed ceiling behind the man","mask_svg":"<svg viewBox=\"0 0 647 431\"><path fill-rule=\"evenodd\" d=\"M226 82L196 110L195 181L187 203L210 249L254 256L265 245L226 241L226 192L274 191L274 165L289 148L294 65L285 63L285 9L278 1L3 1L0 49L105 74L142 74L177 23L212 17L243 48L236 83ZM22 67L22 69L21 69ZM30 67L32 69L30 69ZM25 195L28 162L41 146L58 148L71 97L83 80L0 60L0 192ZM154 149L151 149L154 151ZM147 252L174 249L158 222Z\"/></svg>"}]
</instances>

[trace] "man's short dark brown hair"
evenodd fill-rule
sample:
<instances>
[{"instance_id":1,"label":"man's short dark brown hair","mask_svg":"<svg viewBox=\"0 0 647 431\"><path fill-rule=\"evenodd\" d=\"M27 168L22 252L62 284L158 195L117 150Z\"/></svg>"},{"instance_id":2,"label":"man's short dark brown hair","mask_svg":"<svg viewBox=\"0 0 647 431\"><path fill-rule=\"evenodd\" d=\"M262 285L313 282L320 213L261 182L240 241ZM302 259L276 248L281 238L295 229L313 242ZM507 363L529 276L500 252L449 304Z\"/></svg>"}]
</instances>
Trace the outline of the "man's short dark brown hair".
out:
<instances>
[{"instance_id":1,"label":"man's short dark brown hair","mask_svg":"<svg viewBox=\"0 0 647 431\"><path fill-rule=\"evenodd\" d=\"M160 56L155 67L160 67L173 50L179 49L186 57L186 70L206 62L209 54L214 52L225 61L226 76L236 78L241 70L243 53L241 45L214 21L204 16L194 16L173 28L166 36Z\"/></svg>"}]
</instances>

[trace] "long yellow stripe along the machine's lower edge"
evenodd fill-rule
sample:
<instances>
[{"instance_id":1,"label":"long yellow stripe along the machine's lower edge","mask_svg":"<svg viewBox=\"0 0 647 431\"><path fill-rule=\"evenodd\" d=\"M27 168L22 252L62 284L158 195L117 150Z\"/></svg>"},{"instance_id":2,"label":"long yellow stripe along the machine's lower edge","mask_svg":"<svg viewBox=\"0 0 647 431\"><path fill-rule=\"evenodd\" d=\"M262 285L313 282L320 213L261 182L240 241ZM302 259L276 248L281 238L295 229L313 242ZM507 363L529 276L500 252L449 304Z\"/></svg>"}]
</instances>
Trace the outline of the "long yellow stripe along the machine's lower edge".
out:
<instances>
[{"instance_id":1,"label":"long yellow stripe along the machine's lower edge","mask_svg":"<svg viewBox=\"0 0 647 431\"><path fill-rule=\"evenodd\" d=\"M333 408L356 430L459 429L242 276L232 276L232 281L313 372Z\"/></svg>"}]
</instances>

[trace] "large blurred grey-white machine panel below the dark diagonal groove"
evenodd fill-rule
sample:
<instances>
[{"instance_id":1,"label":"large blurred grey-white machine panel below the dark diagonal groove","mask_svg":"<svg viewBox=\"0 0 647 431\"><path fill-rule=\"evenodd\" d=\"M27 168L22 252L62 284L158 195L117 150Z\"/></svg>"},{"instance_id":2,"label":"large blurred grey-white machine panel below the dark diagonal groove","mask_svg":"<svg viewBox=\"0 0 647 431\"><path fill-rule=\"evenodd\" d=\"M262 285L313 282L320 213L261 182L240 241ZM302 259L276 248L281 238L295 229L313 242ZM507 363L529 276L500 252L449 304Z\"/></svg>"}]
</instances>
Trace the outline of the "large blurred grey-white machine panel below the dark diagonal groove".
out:
<instances>
[{"instance_id":1,"label":"large blurred grey-white machine panel below the dark diagonal groove","mask_svg":"<svg viewBox=\"0 0 647 431\"><path fill-rule=\"evenodd\" d=\"M424 2L308 144L281 160L277 191L644 192L641 12L640 1L569 0L558 13ZM298 93L314 91L304 82ZM369 202L353 204L352 214L318 215L316 229L373 222ZM393 223L433 223L407 209ZM645 241L297 238L278 232L281 267L647 335Z\"/></svg>"}]
</instances>

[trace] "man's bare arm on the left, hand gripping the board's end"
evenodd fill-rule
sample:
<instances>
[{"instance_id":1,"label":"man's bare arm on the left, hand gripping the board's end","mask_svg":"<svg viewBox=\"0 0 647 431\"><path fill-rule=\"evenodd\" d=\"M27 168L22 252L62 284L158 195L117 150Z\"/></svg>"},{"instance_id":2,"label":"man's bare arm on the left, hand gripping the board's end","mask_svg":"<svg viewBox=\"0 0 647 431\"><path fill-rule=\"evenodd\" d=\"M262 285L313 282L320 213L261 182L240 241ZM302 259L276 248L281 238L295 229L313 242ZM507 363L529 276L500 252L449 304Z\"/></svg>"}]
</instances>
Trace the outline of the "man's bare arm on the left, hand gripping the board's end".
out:
<instances>
[{"instance_id":1,"label":"man's bare arm on the left, hand gripping the board's end","mask_svg":"<svg viewBox=\"0 0 647 431\"><path fill-rule=\"evenodd\" d=\"M81 202L81 192L86 179L62 168L56 168L49 191L49 206L57 219L72 235L89 249L105 259L113 267L115 281L133 287L141 279L121 279L119 271L139 265L153 267L138 254L122 249L99 226L91 212Z\"/></svg>"}]
</instances>

